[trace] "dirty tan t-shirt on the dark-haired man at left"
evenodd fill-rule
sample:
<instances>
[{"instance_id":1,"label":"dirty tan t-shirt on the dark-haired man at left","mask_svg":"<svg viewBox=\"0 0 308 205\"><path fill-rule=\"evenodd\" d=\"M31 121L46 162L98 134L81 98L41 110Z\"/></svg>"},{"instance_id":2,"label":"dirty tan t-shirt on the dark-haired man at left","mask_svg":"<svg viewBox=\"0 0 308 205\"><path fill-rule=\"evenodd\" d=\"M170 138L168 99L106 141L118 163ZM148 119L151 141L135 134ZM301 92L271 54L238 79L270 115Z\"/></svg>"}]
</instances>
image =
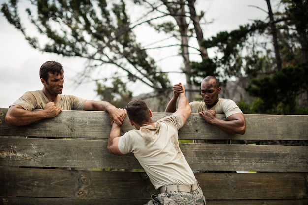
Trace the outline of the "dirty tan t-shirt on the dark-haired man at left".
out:
<instances>
[{"instance_id":1,"label":"dirty tan t-shirt on the dark-haired man at left","mask_svg":"<svg viewBox=\"0 0 308 205\"><path fill-rule=\"evenodd\" d=\"M25 110L44 109L49 102L42 90L29 91L23 94L12 105L20 105ZM73 95L58 95L57 107L63 110L83 110L86 100ZM11 106L12 106L11 105Z\"/></svg>"}]
</instances>

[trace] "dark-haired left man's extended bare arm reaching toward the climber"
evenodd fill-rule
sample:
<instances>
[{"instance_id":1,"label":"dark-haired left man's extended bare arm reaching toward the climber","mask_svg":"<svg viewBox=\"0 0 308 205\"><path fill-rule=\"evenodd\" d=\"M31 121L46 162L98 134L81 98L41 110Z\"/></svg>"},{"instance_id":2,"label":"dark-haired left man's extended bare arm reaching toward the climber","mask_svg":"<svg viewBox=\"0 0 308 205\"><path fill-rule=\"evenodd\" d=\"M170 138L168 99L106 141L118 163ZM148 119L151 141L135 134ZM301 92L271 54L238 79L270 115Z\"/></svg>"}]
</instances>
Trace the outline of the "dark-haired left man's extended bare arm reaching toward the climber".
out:
<instances>
[{"instance_id":1,"label":"dark-haired left man's extended bare arm reaching toward the climber","mask_svg":"<svg viewBox=\"0 0 308 205\"><path fill-rule=\"evenodd\" d=\"M86 100L84 110L96 110L105 111L109 113L110 121L116 122L118 125L122 125L125 119L125 115L120 108L116 108L114 105L107 101L95 101Z\"/></svg>"}]
</instances>

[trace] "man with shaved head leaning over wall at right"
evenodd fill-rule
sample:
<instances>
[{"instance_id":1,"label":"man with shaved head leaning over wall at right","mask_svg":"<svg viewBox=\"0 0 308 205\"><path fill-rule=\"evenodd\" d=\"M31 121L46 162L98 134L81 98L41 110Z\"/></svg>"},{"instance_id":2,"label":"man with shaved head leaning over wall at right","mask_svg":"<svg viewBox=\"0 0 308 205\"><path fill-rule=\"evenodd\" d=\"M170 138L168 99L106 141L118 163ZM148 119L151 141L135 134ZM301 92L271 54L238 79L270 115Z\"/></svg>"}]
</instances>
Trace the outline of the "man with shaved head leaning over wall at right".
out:
<instances>
[{"instance_id":1,"label":"man with shaved head leaning over wall at right","mask_svg":"<svg viewBox=\"0 0 308 205\"><path fill-rule=\"evenodd\" d=\"M191 112L199 113L209 124L212 124L230 134L243 135L246 130L245 117L241 109L233 100L219 98L221 88L214 76L207 76L201 82L201 97L203 102L190 102ZM181 83L173 87L173 97L169 101L165 112L175 112L179 93L183 93ZM216 118L215 114L225 114L226 120ZM205 142L195 140L195 142Z\"/></svg>"}]
</instances>

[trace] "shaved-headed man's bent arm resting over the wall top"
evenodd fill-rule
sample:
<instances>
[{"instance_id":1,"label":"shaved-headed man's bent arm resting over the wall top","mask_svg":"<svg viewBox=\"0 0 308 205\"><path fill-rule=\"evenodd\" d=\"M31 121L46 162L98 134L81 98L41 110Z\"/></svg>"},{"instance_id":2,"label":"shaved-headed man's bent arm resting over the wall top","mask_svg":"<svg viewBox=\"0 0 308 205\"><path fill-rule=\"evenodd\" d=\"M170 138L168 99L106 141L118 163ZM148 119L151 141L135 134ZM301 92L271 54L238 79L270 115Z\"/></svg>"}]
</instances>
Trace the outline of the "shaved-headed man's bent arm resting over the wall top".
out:
<instances>
[{"instance_id":1,"label":"shaved-headed man's bent arm resting over the wall top","mask_svg":"<svg viewBox=\"0 0 308 205\"><path fill-rule=\"evenodd\" d=\"M218 119L215 117L213 110L199 112L204 121L222 129L230 134L244 135L246 130L245 117L242 113L235 113L227 118L227 120Z\"/></svg>"}]
</instances>

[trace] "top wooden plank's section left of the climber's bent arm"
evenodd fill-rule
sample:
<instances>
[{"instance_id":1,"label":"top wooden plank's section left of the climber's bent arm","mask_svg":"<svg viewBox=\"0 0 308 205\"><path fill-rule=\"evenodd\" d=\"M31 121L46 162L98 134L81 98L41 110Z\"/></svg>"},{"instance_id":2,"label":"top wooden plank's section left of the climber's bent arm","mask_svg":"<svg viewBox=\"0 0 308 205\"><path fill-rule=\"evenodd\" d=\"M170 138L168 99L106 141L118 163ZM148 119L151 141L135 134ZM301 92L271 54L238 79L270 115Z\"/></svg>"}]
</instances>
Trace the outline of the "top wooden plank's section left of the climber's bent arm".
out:
<instances>
[{"instance_id":1,"label":"top wooden plank's section left of the climber's bent arm","mask_svg":"<svg viewBox=\"0 0 308 205\"><path fill-rule=\"evenodd\" d=\"M94 111L63 111L26 126L11 126L4 121L7 109L0 109L0 135L36 137L106 138L110 131L109 114Z\"/></svg>"}]
</instances>

